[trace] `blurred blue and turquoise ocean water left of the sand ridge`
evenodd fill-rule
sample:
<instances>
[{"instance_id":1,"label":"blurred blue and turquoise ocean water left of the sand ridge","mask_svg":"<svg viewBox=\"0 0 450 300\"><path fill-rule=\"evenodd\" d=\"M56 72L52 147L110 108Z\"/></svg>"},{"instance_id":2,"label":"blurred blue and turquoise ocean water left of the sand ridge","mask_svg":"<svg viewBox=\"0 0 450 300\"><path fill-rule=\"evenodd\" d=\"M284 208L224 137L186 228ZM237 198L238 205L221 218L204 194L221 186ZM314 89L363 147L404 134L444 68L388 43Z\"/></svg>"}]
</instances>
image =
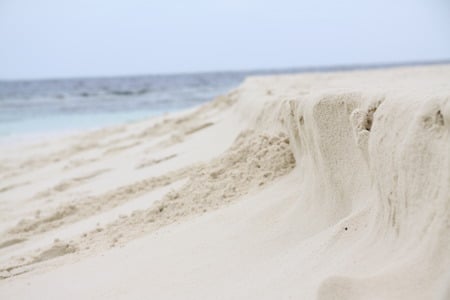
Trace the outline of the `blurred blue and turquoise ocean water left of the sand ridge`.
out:
<instances>
[{"instance_id":1,"label":"blurred blue and turquoise ocean water left of the sand ridge","mask_svg":"<svg viewBox=\"0 0 450 300\"><path fill-rule=\"evenodd\" d=\"M94 129L190 108L226 93L247 75L0 81L0 139Z\"/></svg>"}]
</instances>

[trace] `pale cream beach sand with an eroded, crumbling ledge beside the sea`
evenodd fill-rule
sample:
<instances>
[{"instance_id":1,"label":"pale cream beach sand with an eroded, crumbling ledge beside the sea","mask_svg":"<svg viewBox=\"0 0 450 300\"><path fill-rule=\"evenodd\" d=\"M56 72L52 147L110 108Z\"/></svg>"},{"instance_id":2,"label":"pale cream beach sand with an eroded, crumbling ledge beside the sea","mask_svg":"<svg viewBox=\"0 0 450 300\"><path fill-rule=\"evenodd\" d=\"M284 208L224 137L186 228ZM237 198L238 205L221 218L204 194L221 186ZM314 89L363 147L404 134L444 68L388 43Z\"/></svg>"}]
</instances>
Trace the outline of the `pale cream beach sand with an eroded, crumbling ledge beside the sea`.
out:
<instances>
[{"instance_id":1,"label":"pale cream beach sand with an eroded, crumbling ledge beside the sea","mask_svg":"<svg viewBox=\"0 0 450 300\"><path fill-rule=\"evenodd\" d=\"M0 299L449 299L449 173L446 65L2 145Z\"/></svg>"}]
</instances>

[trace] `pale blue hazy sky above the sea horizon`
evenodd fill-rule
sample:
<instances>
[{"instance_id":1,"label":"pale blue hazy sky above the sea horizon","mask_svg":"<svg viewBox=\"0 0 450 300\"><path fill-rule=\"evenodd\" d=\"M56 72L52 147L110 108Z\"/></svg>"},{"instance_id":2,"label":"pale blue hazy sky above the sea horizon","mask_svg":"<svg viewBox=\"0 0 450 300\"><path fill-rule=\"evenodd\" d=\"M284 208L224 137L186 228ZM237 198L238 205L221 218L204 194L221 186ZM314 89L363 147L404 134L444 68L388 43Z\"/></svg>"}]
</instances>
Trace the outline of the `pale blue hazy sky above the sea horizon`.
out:
<instances>
[{"instance_id":1,"label":"pale blue hazy sky above the sea horizon","mask_svg":"<svg viewBox=\"0 0 450 300\"><path fill-rule=\"evenodd\" d=\"M0 0L0 80L446 59L449 0Z\"/></svg>"}]
</instances>

